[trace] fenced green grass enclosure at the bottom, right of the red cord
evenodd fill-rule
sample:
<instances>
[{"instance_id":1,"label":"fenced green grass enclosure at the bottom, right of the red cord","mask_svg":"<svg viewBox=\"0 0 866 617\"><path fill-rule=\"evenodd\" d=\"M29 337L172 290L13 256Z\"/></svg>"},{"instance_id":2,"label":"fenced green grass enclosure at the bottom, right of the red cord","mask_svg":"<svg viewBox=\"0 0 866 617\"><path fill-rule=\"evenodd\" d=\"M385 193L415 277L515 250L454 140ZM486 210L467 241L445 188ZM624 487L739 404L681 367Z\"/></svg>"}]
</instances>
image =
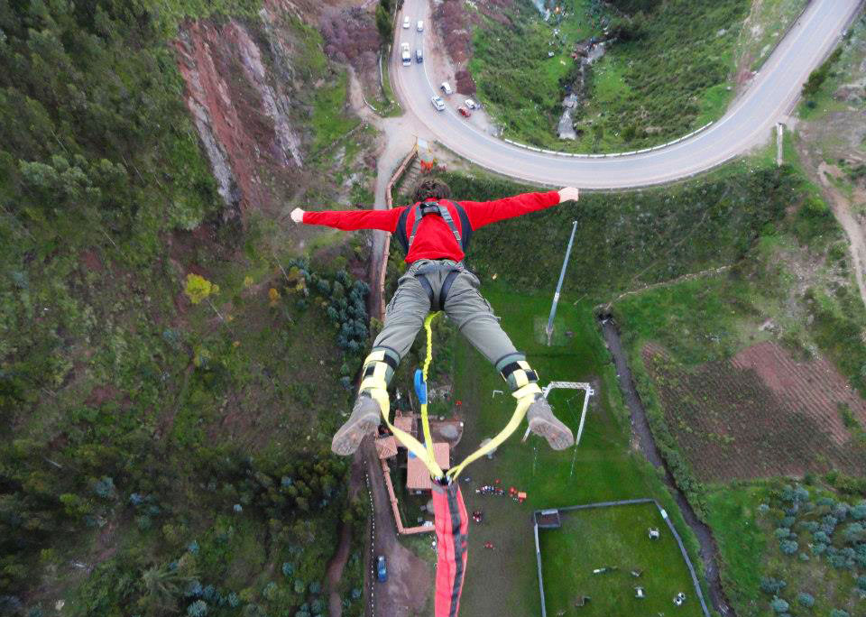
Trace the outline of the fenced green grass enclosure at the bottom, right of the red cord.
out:
<instances>
[{"instance_id":1,"label":"fenced green grass enclosure at the bottom, right of the red cord","mask_svg":"<svg viewBox=\"0 0 866 617\"><path fill-rule=\"evenodd\" d=\"M648 537L658 529L659 539ZM676 609L682 617L702 615L686 562L654 503L562 513L558 530L539 530L548 614L574 612L576 598L591 601L581 615L656 614L674 610L673 598L686 594ZM594 569L615 567L593 574ZM639 577L631 575L640 570ZM645 598L636 597L635 586ZM569 613L567 613L569 614Z\"/></svg>"}]
</instances>

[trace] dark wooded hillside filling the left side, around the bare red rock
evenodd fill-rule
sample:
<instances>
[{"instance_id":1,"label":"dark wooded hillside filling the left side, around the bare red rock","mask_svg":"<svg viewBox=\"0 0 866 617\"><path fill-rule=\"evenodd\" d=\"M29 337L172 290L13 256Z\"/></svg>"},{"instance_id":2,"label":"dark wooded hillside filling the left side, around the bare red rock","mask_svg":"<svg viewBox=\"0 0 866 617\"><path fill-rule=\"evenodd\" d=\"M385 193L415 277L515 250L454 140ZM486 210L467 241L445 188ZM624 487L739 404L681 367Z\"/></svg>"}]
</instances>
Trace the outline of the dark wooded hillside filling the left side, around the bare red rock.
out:
<instances>
[{"instance_id":1,"label":"dark wooded hillside filling the left side, around the bare red rock","mask_svg":"<svg viewBox=\"0 0 866 617\"><path fill-rule=\"evenodd\" d=\"M292 267L272 218L226 216L167 45L226 7L0 5L4 614L320 614L338 526L365 520L328 452L366 337L335 272L355 252ZM329 86L297 100L309 154L356 121L297 29L301 89Z\"/></svg>"}]
</instances>

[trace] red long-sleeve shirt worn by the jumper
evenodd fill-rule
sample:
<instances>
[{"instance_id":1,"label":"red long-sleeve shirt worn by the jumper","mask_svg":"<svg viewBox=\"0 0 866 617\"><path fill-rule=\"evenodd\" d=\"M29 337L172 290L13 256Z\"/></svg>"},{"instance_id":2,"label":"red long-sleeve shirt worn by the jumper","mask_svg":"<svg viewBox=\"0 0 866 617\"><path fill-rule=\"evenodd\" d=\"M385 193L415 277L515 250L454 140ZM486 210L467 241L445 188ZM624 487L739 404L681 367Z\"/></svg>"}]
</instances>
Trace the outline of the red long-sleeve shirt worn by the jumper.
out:
<instances>
[{"instance_id":1,"label":"red long-sleeve shirt worn by the jumper","mask_svg":"<svg viewBox=\"0 0 866 617\"><path fill-rule=\"evenodd\" d=\"M434 199L428 199L434 201ZM446 200L441 201L446 205ZM458 201L466 212L469 225L473 231L479 227L490 225L505 218L521 216L559 203L559 193L551 190L547 193L523 193L511 198L493 199L493 201ZM397 221L403 210L412 206L393 207L390 210L342 210L327 212L305 212L303 222L308 225L325 225L336 229L381 229L394 233ZM460 219L455 219L457 229L460 229ZM411 234L415 217L410 211L406 220L406 233ZM464 258L463 250L457 244L454 234L441 216L424 216L418 226L418 233L412 243L406 262L417 262L419 259L447 258L459 262Z\"/></svg>"}]
</instances>

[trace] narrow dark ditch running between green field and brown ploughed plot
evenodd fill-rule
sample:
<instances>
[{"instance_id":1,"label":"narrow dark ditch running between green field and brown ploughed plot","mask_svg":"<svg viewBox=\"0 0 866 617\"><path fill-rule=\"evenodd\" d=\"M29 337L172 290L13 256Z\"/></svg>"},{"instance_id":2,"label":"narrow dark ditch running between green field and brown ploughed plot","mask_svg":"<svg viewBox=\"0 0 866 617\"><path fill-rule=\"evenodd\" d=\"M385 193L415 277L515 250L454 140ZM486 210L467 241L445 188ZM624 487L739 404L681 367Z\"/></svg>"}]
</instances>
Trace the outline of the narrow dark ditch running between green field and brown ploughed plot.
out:
<instances>
[{"instance_id":1,"label":"narrow dark ditch running between green field and brown ploughed plot","mask_svg":"<svg viewBox=\"0 0 866 617\"><path fill-rule=\"evenodd\" d=\"M722 582L717 566L718 559L716 557L718 548L715 546L713 534L709 527L701 520L698 520L695 511L692 510L691 504L686 500L686 496L680 493L677 483L674 482L673 475L670 474L664 459L659 454L659 448L656 447L656 442L652 438L646 410L643 408L638 391L634 387L634 381L631 379L631 370L629 369L629 364L626 362L625 352L622 349L619 330L613 323L612 318L603 320L602 331L604 341L607 343L608 349L610 349L611 355L613 355L613 362L616 364L616 373L619 375L622 398L631 411L631 428L638 437L640 451L653 466L665 470L665 483L673 490L674 499L677 501L679 510L683 513L683 519L686 520L686 525L695 532L698 544L701 547L701 561L704 564L704 575L710 588L710 602L713 603L713 608L725 617L736 617L736 613L728 603L727 598L725 598L722 589Z\"/></svg>"}]
</instances>

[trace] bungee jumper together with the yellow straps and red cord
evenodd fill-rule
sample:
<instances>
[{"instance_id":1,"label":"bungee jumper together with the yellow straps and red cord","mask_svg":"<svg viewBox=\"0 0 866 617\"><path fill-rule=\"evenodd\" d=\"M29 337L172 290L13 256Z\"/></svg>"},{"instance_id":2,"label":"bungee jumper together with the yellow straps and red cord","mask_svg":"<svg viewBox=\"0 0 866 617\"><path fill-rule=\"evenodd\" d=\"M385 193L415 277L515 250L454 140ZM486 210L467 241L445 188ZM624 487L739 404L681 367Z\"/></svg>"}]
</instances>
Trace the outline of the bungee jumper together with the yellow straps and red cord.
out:
<instances>
[{"instance_id":1,"label":"bungee jumper together with the yellow straps and red cord","mask_svg":"<svg viewBox=\"0 0 866 617\"><path fill-rule=\"evenodd\" d=\"M342 456L353 454L362 439L374 434L384 419L394 437L428 467L434 481L434 529L438 540L436 617L456 617L463 589L468 520L457 475L466 465L499 447L518 428L524 416L530 430L547 439L550 447L562 450L575 443L571 429L553 415L539 387L538 374L502 330L490 303L478 290L480 281L466 269L463 259L474 230L577 200L578 189L567 187L484 202L452 201L450 197L451 191L445 182L428 179L422 180L415 189L412 206L326 212L295 208L291 212L291 219L296 223L390 232L406 253L409 269L401 276L385 309L382 332L376 336L373 349L364 360L352 415L336 431L331 449ZM469 342L496 367L517 400L511 420L500 434L448 470L438 466L433 454L427 412L427 375L432 359L430 323L439 312L445 312ZM421 327L427 331L427 357L423 369L415 374L415 391L421 404L423 445L392 425L388 398L388 383Z\"/></svg>"}]
</instances>

